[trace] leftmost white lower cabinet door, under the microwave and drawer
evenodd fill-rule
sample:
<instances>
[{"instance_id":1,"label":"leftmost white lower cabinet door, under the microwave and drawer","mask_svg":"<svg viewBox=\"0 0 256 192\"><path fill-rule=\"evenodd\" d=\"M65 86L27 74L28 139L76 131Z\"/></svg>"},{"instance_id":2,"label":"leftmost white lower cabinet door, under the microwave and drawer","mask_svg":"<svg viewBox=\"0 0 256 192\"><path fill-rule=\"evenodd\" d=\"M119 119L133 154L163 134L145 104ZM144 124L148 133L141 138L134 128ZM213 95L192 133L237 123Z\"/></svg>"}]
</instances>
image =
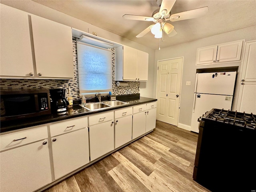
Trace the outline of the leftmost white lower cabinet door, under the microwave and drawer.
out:
<instances>
[{"instance_id":1,"label":"leftmost white lower cabinet door, under the microwave and drawer","mask_svg":"<svg viewBox=\"0 0 256 192\"><path fill-rule=\"evenodd\" d=\"M0 153L0 191L32 192L52 182L48 143L43 142Z\"/></svg>"}]
</instances>

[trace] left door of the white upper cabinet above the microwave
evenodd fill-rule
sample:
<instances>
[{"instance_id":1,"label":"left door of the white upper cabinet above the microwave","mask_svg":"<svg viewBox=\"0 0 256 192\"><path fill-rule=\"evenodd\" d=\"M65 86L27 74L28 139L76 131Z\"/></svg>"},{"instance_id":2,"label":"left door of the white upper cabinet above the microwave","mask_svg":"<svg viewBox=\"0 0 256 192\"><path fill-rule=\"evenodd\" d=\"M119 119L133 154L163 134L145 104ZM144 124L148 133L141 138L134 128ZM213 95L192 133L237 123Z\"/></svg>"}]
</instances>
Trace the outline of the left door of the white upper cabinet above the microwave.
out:
<instances>
[{"instance_id":1,"label":"left door of the white upper cabinet above the microwave","mask_svg":"<svg viewBox=\"0 0 256 192\"><path fill-rule=\"evenodd\" d=\"M1 4L1 76L34 73L28 14ZM2 77L1 77L2 78Z\"/></svg>"}]
</instances>

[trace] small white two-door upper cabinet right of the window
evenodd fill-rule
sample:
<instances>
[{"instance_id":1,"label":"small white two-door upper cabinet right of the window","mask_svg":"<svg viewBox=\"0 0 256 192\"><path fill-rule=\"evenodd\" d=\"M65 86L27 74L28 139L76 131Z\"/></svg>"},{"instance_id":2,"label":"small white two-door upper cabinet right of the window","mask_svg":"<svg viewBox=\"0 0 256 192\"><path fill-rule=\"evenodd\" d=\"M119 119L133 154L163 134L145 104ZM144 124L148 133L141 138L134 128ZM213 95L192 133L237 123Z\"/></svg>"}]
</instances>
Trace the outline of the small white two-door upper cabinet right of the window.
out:
<instances>
[{"instance_id":1,"label":"small white two-door upper cabinet right of the window","mask_svg":"<svg viewBox=\"0 0 256 192\"><path fill-rule=\"evenodd\" d=\"M147 81L148 53L128 47L116 48L116 81Z\"/></svg>"}]
</instances>

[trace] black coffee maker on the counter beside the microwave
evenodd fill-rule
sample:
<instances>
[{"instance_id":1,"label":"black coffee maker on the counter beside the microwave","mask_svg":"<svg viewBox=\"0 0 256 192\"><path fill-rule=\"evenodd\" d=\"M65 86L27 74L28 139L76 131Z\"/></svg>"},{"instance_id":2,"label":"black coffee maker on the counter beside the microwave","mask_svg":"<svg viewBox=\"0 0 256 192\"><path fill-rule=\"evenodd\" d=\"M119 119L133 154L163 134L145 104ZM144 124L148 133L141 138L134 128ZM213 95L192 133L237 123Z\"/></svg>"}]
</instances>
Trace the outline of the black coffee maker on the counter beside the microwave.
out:
<instances>
[{"instance_id":1,"label":"black coffee maker on the counter beside the microwave","mask_svg":"<svg viewBox=\"0 0 256 192\"><path fill-rule=\"evenodd\" d=\"M67 114L69 102L65 98L65 92L65 89L50 89L52 113Z\"/></svg>"}]
</instances>

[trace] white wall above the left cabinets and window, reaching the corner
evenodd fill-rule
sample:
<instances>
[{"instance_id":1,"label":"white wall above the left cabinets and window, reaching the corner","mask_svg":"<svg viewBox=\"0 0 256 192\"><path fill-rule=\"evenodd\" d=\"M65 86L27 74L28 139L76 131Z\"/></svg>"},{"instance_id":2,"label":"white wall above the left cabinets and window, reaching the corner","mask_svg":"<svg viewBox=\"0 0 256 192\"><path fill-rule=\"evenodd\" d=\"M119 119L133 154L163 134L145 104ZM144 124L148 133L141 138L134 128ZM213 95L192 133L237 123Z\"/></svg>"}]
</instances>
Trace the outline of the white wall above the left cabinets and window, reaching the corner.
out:
<instances>
[{"instance_id":1,"label":"white wall above the left cabinets and window, reaching the corner","mask_svg":"<svg viewBox=\"0 0 256 192\"><path fill-rule=\"evenodd\" d=\"M40 17L44 17L46 19L49 19L58 23L62 23L72 28L82 30L84 32L89 32L90 34L92 34L92 32L96 32L97 36L99 37L102 37L120 44L124 44L130 47L136 48L138 50L142 50L144 52L148 52L149 54L148 82L141 82L140 95L144 97L153 98L155 50L148 48L144 45L138 44L136 42L130 41L121 36L118 36L112 32L93 26L92 24L89 24L77 18L68 16L52 8L48 8L44 5L38 4L31 0L1 0L1 3L23 10L25 12L29 12L31 14L34 14Z\"/></svg>"}]
</instances>

